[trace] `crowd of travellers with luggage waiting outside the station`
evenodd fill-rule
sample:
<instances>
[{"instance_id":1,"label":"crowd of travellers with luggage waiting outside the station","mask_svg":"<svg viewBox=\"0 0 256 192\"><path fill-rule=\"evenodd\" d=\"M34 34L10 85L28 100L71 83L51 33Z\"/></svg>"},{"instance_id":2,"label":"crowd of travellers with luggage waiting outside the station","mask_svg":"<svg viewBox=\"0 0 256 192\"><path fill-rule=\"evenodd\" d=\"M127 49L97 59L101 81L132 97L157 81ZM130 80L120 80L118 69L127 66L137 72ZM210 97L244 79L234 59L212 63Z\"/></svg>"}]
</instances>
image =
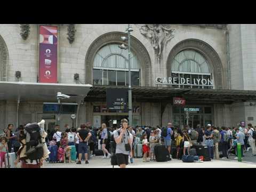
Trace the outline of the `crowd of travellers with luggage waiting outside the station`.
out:
<instances>
[{"instance_id":1,"label":"crowd of travellers with luggage waiting outside the station","mask_svg":"<svg viewBox=\"0 0 256 192\"><path fill-rule=\"evenodd\" d=\"M123 127L125 127L124 130ZM9 153L17 153L19 150L19 134L23 129L24 126L20 125L13 132L12 124L9 124L5 129L5 135L0 138L1 167L6 150ZM197 125L196 129L189 126L180 129L180 127L172 126L172 123L162 128L160 126L132 127L127 124L126 119L122 119L121 127L107 127L103 123L101 127L93 129L90 123L86 123L82 124L78 129L74 127L70 129L66 124L65 129L65 132L61 132L60 126L55 125L54 130L47 130L45 142L47 146L56 145L62 149L66 149L68 146L75 146L77 153L76 164L81 164L82 159L85 160L85 164L89 164L88 159L99 155L99 151L102 151L102 158L110 158L112 135L114 135L116 142L115 153L120 167L125 167L129 158L130 162L133 163L135 141L139 141L142 144L143 162L155 161L154 148L156 145L165 145L172 156L174 151L176 153L177 151L182 151L182 154L174 155L178 159L181 159L183 154L190 155L190 148L193 145L206 145L209 150L209 156L212 159L229 158L230 154L237 156L237 143L242 146L242 157L249 147L252 149L252 155L256 156L256 127L253 127L252 124L248 124L247 127L239 125L232 128L225 126L215 127L208 124L206 127ZM220 151L221 155L219 154ZM89 157L88 154L90 154Z\"/></svg>"}]
</instances>

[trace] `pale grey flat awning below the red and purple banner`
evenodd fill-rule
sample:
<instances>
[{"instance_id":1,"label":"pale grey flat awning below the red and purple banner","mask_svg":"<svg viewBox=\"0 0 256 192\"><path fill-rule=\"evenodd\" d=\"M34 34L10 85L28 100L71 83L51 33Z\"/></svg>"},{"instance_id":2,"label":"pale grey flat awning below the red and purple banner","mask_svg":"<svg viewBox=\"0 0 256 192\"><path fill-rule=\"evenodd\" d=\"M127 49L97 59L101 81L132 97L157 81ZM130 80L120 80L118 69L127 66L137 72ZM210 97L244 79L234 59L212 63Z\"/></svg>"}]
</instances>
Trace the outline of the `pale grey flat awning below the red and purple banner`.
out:
<instances>
[{"instance_id":1,"label":"pale grey flat awning below the red and purple banner","mask_svg":"<svg viewBox=\"0 0 256 192\"><path fill-rule=\"evenodd\" d=\"M28 83L0 82L0 101L54 101L57 102L57 92L70 95L65 102L83 100L90 91L89 84L60 84L60 83Z\"/></svg>"}]
</instances>

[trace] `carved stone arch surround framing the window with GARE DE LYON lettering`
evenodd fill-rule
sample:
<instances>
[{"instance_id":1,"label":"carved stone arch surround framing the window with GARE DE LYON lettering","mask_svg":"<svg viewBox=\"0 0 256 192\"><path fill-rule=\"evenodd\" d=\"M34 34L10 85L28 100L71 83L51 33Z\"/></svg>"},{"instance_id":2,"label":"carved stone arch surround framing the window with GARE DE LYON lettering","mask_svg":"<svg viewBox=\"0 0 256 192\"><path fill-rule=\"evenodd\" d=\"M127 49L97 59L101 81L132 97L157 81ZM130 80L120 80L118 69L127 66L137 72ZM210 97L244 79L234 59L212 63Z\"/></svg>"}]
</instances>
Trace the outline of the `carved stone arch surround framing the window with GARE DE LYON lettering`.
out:
<instances>
[{"instance_id":1,"label":"carved stone arch surround framing the window with GARE DE LYON lettering","mask_svg":"<svg viewBox=\"0 0 256 192\"><path fill-rule=\"evenodd\" d=\"M173 47L167 58L167 76L171 75L171 63L175 55L186 49L193 49L198 51L205 57L205 59L209 62L211 71L214 76L215 89L222 89L223 70L219 55L209 44L199 39L185 39Z\"/></svg>"}]
</instances>

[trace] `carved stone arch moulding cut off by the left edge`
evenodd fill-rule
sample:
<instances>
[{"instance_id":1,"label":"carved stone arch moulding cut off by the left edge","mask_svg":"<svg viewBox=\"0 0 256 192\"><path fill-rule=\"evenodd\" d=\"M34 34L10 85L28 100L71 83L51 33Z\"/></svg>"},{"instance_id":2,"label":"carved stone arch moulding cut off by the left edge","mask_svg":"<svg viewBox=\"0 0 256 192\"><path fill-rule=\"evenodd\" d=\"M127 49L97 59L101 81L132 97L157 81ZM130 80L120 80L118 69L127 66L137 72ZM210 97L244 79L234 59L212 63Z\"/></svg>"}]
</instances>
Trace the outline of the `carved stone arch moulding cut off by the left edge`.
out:
<instances>
[{"instance_id":1,"label":"carved stone arch moulding cut off by the left edge","mask_svg":"<svg viewBox=\"0 0 256 192\"><path fill-rule=\"evenodd\" d=\"M9 54L4 39L0 36L0 81L8 81Z\"/></svg>"}]
</instances>

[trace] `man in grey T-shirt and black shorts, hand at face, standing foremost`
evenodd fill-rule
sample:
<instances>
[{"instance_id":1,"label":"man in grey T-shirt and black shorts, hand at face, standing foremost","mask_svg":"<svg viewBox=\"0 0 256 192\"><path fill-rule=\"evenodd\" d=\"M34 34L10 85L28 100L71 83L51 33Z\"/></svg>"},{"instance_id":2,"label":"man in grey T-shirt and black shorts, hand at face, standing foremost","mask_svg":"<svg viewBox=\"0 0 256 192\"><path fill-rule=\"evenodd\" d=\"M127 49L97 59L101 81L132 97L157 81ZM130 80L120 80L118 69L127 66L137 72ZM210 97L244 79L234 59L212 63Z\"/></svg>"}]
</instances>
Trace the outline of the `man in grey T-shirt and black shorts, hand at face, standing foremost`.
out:
<instances>
[{"instance_id":1,"label":"man in grey T-shirt and black shorts, hand at face, standing foremost","mask_svg":"<svg viewBox=\"0 0 256 192\"><path fill-rule=\"evenodd\" d=\"M127 119L121 120L121 127L114 131L114 139L116 142L116 161L120 168L128 165L128 156L132 157L132 134L127 130Z\"/></svg>"}]
</instances>

